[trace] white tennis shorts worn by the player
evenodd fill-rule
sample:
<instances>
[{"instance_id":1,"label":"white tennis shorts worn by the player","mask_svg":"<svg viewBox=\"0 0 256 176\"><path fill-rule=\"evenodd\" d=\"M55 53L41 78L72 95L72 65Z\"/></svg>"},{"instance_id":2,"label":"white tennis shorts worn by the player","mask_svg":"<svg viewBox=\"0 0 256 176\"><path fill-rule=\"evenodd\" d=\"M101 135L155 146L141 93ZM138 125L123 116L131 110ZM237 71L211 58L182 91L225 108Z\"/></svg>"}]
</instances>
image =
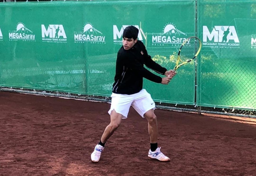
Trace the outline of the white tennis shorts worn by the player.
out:
<instances>
[{"instance_id":1,"label":"white tennis shorts worn by the player","mask_svg":"<svg viewBox=\"0 0 256 176\"><path fill-rule=\"evenodd\" d=\"M155 102L145 89L132 95L112 93L111 97L111 107L108 113L110 115L113 109L115 109L115 112L123 115L122 119L127 118L130 106L132 106L143 118L147 111L155 109Z\"/></svg>"}]
</instances>

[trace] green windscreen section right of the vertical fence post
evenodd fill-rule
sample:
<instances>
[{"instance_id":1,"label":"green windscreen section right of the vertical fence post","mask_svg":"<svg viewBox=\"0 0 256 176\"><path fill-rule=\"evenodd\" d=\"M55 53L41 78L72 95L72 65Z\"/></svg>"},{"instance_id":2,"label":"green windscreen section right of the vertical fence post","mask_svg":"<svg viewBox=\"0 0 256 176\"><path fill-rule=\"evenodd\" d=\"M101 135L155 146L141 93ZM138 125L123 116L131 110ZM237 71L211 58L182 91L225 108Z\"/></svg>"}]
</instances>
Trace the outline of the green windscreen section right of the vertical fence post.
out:
<instances>
[{"instance_id":1,"label":"green windscreen section right of the vertical fence post","mask_svg":"<svg viewBox=\"0 0 256 176\"><path fill-rule=\"evenodd\" d=\"M200 0L197 104L256 108L256 1Z\"/></svg>"}]
</instances>

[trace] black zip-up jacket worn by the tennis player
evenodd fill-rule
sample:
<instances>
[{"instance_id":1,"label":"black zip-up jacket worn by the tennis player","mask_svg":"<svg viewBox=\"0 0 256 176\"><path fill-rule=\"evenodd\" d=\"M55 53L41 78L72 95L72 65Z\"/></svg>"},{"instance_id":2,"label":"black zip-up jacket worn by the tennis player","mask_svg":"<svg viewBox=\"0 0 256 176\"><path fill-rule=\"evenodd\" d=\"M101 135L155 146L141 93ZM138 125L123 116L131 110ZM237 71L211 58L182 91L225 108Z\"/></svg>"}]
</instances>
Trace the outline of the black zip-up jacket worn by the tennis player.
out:
<instances>
[{"instance_id":1,"label":"black zip-up jacket worn by the tennis player","mask_svg":"<svg viewBox=\"0 0 256 176\"><path fill-rule=\"evenodd\" d=\"M144 64L162 75L167 71L151 59L142 41L138 40L129 50L125 50L122 46L117 54L112 92L128 95L138 93L142 90L143 77L161 83L162 78L144 68Z\"/></svg>"}]
</instances>

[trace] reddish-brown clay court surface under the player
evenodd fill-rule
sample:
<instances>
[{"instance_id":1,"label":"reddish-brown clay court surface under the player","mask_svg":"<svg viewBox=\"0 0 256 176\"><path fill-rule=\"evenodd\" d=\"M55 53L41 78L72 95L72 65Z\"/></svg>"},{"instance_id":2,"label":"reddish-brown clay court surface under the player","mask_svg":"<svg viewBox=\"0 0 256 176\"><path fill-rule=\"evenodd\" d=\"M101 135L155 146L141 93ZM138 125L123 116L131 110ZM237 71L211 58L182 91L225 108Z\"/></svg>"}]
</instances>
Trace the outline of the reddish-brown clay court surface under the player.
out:
<instances>
[{"instance_id":1,"label":"reddish-brown clay court surface under the player","mask_svg":"<svg viewBox=\"0 0 256 176\"><path fill-rule=\"evenodd\" d=\"M10 92L0 100L1 176L256 175L250 119L156 109L158 144L171 159L163 163L147 157L147 122L131 108L95 164L90 154L110 122L110 104Z\"/></svg>"}]
</instances>

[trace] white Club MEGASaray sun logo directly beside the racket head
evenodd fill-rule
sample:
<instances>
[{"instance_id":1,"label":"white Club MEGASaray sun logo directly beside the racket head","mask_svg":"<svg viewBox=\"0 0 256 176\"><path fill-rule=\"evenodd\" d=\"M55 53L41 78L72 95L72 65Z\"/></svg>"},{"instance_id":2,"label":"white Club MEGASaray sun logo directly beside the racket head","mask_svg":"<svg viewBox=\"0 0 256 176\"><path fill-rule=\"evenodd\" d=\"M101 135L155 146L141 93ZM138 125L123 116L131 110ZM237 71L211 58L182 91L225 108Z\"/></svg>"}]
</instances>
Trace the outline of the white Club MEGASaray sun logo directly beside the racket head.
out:
<instances>
[{"instance_id":1,"label":"white Club MEGASaray sun logo directly beside the racket head","mask_svg":"<svg viewBox=\"0 0 256 176\"><path fill-rule=\"evenodd\" d=\"M152 33L152 46L180 46L186 40L185 36L173 23L167 23L163 32Z\"/></svg>"}]
</instances>

